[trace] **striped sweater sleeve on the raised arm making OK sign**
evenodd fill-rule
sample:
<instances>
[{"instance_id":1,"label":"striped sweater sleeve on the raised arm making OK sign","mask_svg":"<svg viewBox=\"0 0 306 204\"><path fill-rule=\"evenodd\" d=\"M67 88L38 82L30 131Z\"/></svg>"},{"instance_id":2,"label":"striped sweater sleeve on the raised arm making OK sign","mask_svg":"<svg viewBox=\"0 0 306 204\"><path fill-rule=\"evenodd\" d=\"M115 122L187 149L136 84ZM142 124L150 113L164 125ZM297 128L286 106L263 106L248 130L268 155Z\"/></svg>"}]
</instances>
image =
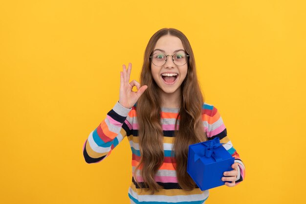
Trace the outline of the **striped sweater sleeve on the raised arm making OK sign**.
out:
<instances>
[{"instance_id":1,"label":"striped sweater sleeve on the raised arm making OK sign","mask_svg":"<svg viewBox=\"0 0 306 204\"><path fill-rule=\"evenodd\" d=\"M127 135L127 120L131 109L115 104L107 117L92 131L83 146L83 156L87 163L97 163L105 159Z\"/></svg>"}]
</instances>

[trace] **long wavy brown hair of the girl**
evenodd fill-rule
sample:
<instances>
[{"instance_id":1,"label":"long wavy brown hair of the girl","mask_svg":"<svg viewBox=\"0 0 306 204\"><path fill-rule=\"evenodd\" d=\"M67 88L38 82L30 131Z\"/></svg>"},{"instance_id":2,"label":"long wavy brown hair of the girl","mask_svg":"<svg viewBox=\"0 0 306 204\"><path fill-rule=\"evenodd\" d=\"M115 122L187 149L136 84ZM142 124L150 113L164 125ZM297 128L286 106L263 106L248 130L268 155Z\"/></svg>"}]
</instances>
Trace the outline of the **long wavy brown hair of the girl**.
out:
<instances>
[{"instance_id":1,"label":"long wavy brown hair of the girl","mask_svg":"<svg viewBox=\"0 0 306 204\"><path fill-rule=\"evenodd\" d=\"M144 63L140 74L140 84L148 85L148 89L138 99L136 114L139 125L139 148L141 159L134 171L134 179L137 181L137 171L143 178L142 189L150 190L153 194L161 186L154 181L154 176L164 161L163 131L160 120L161 101L160 88L155 83L151 73L150 56L158 39L164 35L178 37L185 51L189 54L187 76L181 84L181 104L175 121L175 140L172 157L179 186L184 190L192 190L196 183L187 173L188 147L190 144L207 140L202 124L202 96L196 72L195 58L187 37L174 28L158 30L150 39L144 54ZM178 126L179 118L179 128Z\"/></svg>"}]
</instances>

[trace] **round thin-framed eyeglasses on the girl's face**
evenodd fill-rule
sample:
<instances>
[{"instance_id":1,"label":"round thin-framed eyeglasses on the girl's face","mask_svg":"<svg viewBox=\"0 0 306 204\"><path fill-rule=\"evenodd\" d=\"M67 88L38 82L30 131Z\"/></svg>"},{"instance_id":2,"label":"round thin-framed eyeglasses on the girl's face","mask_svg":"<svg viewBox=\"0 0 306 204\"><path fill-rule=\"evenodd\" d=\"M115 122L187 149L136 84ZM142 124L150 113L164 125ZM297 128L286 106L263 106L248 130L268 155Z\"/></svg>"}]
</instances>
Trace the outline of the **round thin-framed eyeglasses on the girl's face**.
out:
<instances>
[{"instance_id":1,"label":"round thin-framed eyeglasses on the girl's face","mask_svg":"<svg viewBox=\"0 0 306 204\"><path fill-rule=\"evenodd\" d=\"M177 66L183 66L187 63L189 55L186 53L175 53L174 55L165 55L162 53L155 53L152 56L150 56L150 59L152 60L152 63L155 66L163 66L167 62L167 57L172 56L173 63Z\"/></svg>"}]
</instances>

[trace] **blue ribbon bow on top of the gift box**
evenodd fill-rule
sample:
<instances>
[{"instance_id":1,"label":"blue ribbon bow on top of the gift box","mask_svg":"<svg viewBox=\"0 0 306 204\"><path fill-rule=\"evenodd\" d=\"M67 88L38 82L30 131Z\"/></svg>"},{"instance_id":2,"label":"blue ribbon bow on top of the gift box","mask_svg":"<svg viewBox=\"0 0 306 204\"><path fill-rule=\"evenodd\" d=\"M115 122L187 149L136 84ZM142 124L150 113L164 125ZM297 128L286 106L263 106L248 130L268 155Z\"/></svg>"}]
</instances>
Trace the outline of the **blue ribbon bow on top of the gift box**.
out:
<instances>
[{"instance_id":1,"label":"blue ribbon bow on top of the gift box","mask_svg":"<svg viewBox=\"0 0 306 204\"><path fill-rule=\"evenodd\" d=\"M221 161L222 158L219 157L218 155L215 154L215 150L221 146L222 144L226 144L226 143L220 143L219 138L216 137L215 139L211 140L211 142L209 144L207 143L201 143L201 145L204 146L204 156L199 156L197 154L195 154L195 162L203 157L206 158L213 158L215 159L215 161Z\"/></svg>"}]
</instances>

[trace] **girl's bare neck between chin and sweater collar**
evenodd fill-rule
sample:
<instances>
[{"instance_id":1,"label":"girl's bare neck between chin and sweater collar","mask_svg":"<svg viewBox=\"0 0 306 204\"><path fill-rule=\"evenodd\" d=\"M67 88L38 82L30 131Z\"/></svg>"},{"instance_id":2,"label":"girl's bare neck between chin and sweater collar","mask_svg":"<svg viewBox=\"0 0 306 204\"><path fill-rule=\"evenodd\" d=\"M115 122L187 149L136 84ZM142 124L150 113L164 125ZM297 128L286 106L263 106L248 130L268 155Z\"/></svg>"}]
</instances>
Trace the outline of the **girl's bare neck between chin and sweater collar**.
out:
<instances>
[{"instance_id":1,"label":"girl's bare neck between chin and sweater collar","mask_svg":"<svg viewBox=\"0 0 306 204\"><path fill-rule=\"evenodd\" d=\"M173 93L165 93L160 91L161 107L163 108L180 108L181 91L177 89Z\"/></svg>"}]
</instances>

